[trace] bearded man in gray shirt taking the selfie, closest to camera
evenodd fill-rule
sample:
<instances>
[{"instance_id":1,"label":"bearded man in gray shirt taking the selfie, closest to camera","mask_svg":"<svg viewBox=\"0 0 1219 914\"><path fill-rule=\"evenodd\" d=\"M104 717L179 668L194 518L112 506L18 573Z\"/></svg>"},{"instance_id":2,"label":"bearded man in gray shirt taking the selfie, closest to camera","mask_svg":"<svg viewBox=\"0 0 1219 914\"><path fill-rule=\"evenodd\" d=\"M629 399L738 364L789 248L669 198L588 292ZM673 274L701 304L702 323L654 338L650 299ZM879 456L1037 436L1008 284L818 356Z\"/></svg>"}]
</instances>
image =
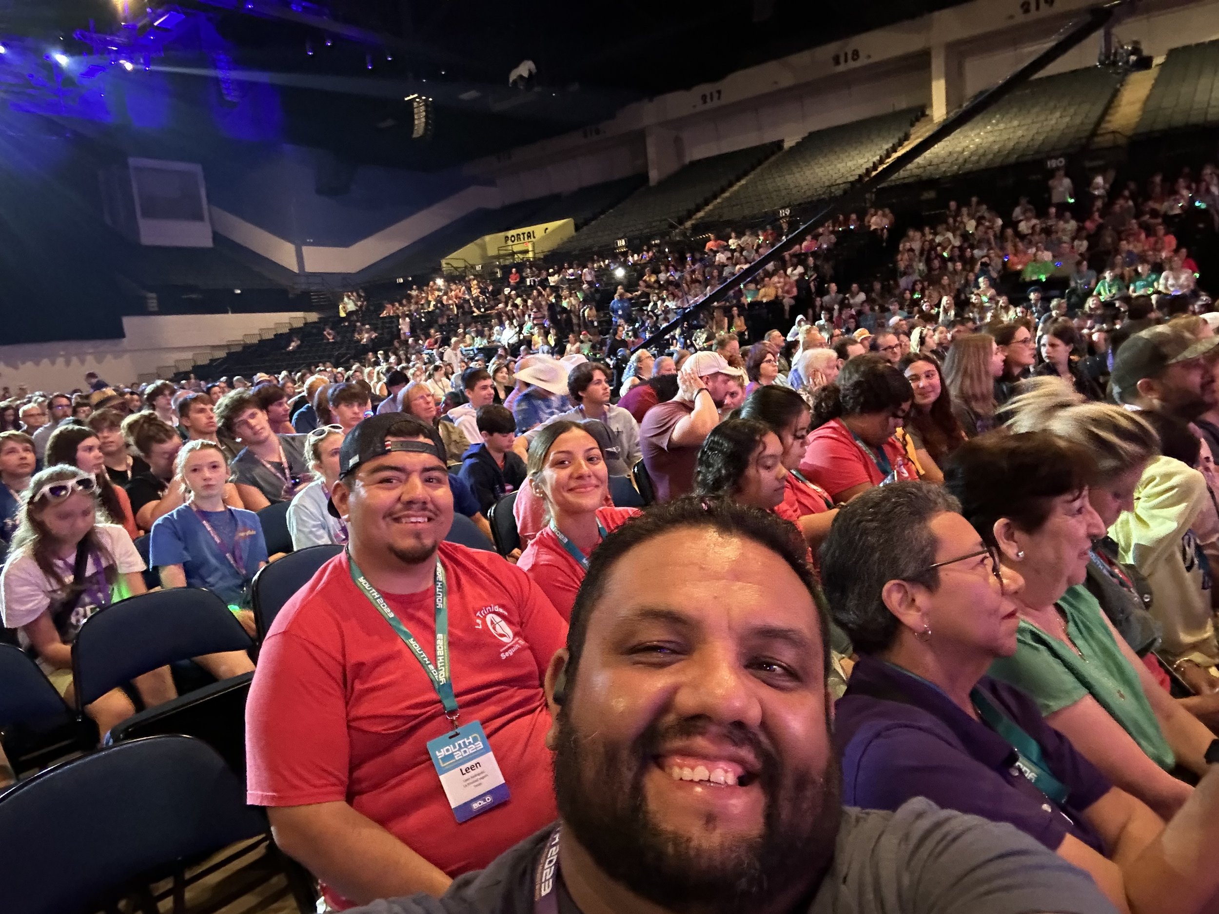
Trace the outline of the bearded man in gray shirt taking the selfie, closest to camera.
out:
<instances>
[{"instance_id":1,"label":"bearded man in gray shirt taking the selfie, closest to camera","mask_svg":"<svg viewBox=\"0 0 1219 914\"><path fill-rule=\"evenodd\" d=\"M440 899L361 910L1112 912L1011 826L841 806L806 552L790 524L702 498L606 537L546 673L558 825Z\"/></svg>"}]
</instances>

